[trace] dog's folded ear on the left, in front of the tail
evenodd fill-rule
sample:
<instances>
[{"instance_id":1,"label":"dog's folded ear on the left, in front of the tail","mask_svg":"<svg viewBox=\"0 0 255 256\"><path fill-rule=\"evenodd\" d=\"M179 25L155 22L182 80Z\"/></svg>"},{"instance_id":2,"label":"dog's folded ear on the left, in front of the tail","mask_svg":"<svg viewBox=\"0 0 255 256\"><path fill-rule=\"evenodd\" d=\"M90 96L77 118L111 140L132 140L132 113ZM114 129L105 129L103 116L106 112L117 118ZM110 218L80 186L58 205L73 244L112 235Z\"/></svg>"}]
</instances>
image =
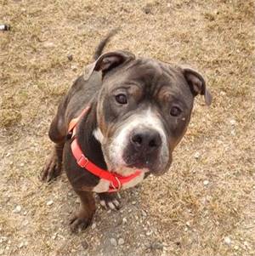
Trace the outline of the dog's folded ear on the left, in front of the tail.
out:
<instances>
[{"instance_id":1,"label":"dog's folded ear on the left, in front of the tail","mask_svg":"<svg viewBox=\"0 0 255 256\"><path fill-rule=\"evenodd\" d=\"M124 62L134 60L135 56L126 51L116 51L99 56L93 64L87 65L84 71L84 79L87 81L94 71L102 71L103 76L107 71L122 65Z\"/></svg>"}]
</instances>

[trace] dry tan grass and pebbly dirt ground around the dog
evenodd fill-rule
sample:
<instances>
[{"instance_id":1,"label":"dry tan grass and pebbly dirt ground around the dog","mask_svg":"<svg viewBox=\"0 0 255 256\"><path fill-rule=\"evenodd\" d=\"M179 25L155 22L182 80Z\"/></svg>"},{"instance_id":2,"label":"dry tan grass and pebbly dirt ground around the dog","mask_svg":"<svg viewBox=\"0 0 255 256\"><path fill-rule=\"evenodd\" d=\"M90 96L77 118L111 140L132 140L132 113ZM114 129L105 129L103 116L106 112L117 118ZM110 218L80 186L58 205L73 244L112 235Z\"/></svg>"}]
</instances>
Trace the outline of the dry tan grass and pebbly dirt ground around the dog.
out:
<instances>
[{"instance_id":1,"label":"dry tan grass and pebbly dirt ground around the dog","mask_svg":"<svg viewBox=\"0 0 255 256\"><path fill-rule=\"evenodd\" d=\"M0 255L255 255L253 13L250 0L0 0ZM37 176L59 100L116 27L107 49L198 68L213 102L195 100L167 174L74 235L65 174Z\"/></svg>"}]
</instances>

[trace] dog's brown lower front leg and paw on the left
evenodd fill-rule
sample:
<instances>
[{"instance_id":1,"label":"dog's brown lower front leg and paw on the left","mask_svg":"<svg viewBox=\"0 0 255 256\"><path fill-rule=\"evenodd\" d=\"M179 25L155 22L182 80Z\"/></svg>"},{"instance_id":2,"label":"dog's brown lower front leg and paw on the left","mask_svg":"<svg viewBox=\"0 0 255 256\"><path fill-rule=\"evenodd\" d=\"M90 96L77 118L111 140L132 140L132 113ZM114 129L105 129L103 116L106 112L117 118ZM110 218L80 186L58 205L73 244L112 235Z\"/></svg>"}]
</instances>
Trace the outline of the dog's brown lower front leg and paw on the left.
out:
<instances>
[{"instance_id":1,"label":"dog's brown lower front leg and paw on the left","mask_svg":"<svg viewBox=\"0 0 255 256\"><path fill-rule=\"evenodd\" d=\"M80 197L80 208L73 214L70 220L70 227L72 232L80 231L90 225L95 212L95 201L92 192L76 191Z\"/></svg>"}]
</instances>

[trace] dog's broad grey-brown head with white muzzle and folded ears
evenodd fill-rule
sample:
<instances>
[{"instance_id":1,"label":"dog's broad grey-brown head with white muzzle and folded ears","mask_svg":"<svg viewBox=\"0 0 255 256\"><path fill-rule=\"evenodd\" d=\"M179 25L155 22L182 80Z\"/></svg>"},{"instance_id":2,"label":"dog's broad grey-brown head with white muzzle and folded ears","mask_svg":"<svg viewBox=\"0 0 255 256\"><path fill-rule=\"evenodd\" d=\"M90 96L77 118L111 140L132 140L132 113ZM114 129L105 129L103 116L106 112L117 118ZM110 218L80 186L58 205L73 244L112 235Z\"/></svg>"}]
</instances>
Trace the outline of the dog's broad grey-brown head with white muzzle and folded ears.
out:
<instances>
[{"instance_id":1,"label":"dog's broad grey-brown head with white muzzle and folded ears","mask_svg":"<svg viewBox=\"0 0 255 256\"><path fill-rule=\"evenodd\" d=\"M108 168L122 175L135 169L165 173L190 122L194 97L204 95L211 104L203 77L190 68L135 59L124 51L101 55L85 79L94 71L102 72L94 136Z\"/></svg>"}]
</instances>

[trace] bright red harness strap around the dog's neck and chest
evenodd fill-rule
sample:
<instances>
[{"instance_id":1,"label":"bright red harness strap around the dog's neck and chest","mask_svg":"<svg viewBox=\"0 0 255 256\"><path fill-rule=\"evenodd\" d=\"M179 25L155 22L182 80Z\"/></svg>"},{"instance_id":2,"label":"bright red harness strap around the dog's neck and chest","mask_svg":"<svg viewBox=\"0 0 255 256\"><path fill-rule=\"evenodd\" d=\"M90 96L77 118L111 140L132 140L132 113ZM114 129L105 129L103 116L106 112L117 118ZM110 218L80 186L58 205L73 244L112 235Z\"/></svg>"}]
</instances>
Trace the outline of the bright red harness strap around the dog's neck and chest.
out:
<instances>
[{"instance_id":1,"label":"bright red harness strap around the dog's neck and chest","mask_svg":"<svg viewBox=\"0 0 255 256\"><path fill-rule=\"evenodd\" d=\"M69 123L68 133L71 135L71 151L73 156L77 160L77 164L86 169L91 174L99 177L100 179L105 179L110 181L109 190L108 192L115 192L120 191L122 189L122 185L131 181L132 179L136 178L141 174L141 171L137 170L134 174L129 176L122 176L116 173L110 173L102 168L96 166L93 162L89 161L85 154L82 152L80 145L78 144L77 140L77 123L83 117L88 110L90 109L90 105L88 105L80 114L80 116L74 118ZM106 191L105 191L106 192Z\"/></svg>"}]
</instances>

